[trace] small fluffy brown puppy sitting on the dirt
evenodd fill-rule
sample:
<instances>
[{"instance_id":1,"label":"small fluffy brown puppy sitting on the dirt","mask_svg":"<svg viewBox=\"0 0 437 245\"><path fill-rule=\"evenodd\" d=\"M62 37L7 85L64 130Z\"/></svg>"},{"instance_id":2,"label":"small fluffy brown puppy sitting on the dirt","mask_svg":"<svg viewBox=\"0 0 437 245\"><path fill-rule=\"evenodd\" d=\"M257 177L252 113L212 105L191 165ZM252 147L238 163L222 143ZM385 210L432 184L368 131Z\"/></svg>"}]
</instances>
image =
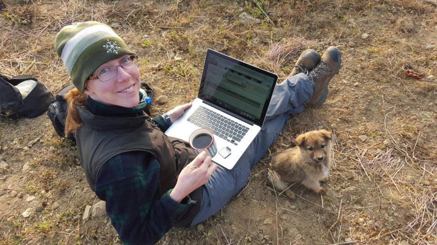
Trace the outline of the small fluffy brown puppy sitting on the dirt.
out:
<instances>
[{"instance_id":1,"label":"small fluffy brown puppy sitting on the dirt","mask_svg":"<svg viewBox=\"0 0 437 245\"><path fill-rule=\"evenodd\" d=\"M295 199L290 183L302 183L320 195L326 191L319 181L326 181L331 162L331 132L311 131L296 138L297 146L273 156L271 170L267 172L269 183L275 190L283 191L289 199ZM287 189L288 188L288 189Z\"/></svg>"}]
</instances>

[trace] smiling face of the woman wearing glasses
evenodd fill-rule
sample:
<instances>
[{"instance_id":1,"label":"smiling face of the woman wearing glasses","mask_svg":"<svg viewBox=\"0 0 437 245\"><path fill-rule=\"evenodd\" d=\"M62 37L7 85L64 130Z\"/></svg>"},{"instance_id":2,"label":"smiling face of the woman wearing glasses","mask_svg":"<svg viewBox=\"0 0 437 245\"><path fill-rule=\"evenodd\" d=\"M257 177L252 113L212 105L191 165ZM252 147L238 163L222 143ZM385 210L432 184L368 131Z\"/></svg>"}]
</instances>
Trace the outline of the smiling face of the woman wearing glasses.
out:
<instances>
[{"instance_id":1,"label":"smiling face of the woman wearing glasses","mask_svg":"<svg viewBox=\"0 0 437 245\"><path fill-rule=\"evenodd\" d=\"M119 65L128 56L108 61L97 68L92 76L98 76L98 72L103 67L118 66L116 76L107 81L88 79L84 93L88 94L93 100L106 105L128 108L136 106L139 103L141 84L138 66L135 65L133 68L125 70Z\"/></svg>"}]
</instances>

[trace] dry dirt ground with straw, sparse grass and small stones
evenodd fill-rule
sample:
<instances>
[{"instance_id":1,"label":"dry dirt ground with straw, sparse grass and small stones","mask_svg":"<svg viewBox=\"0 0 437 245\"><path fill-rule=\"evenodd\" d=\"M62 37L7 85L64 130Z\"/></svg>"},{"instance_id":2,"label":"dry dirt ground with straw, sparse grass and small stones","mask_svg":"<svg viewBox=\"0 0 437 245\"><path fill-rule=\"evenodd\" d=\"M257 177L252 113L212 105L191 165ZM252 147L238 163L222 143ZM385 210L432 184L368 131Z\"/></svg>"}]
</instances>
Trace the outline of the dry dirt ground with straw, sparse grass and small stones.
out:
<instances>
[{"instance_id":1,"label":"dry dirt ground with straw, sparse grass and small stones","mask_svg":"<svg viewBox=\"0 0 437 245\"><path fill-rule=\"evenodd\" d=\"M152 102L152 115L197 95L208 48L280 80L308 46L341 50L326 103L290 116L218 214L159 244L437 244L435 0L0 0L0 9L1 74L31 74L54 94L70 82L56 33L98 20L139 55L154 98L168 96ZM260 23L244 24L243 12ZM294 201L274 192L272 154L319 128L334 136L327 195L300 184ZM106 215L83 220L99 199L47 115L0 118L0 160L0 244L120 244Z\"/></svg>"}]
</instances>

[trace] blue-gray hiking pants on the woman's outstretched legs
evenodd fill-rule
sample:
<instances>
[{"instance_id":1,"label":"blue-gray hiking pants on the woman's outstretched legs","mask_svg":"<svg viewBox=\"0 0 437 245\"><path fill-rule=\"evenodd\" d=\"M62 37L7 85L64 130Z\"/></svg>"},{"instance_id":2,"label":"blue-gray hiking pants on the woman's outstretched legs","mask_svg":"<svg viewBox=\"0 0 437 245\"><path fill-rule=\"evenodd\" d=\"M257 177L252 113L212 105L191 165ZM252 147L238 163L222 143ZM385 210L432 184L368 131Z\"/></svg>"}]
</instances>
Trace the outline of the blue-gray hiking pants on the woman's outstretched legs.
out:
<instances>
[{"instance_id":1,"label":"blue-gray hiking pants on the woman's outstretched legs","mask_svg":"<svg viewBox=\"0 0 437 245\"><path fill-rule=\"evenodd\" d=\"M246 185L251 169L267 152L286 125L289 114L303 111L313 94L312 81L302 73L288 77L276 85L261 131L231 170L217 167L208 183L203 185L201 208L192 222L196 225L217 213Z\"/></svg>"}]
</instances>

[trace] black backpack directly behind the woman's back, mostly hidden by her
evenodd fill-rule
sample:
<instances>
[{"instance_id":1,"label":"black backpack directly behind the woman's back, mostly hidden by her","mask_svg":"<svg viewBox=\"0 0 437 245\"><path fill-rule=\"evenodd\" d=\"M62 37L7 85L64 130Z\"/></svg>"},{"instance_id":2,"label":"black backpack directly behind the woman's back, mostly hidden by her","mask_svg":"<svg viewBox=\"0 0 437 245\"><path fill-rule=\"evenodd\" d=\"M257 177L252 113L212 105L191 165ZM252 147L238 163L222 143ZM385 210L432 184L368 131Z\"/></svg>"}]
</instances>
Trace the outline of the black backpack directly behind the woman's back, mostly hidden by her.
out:
<instances>
[{"instance_id":1,"label":"black backpack directly behind the woman's back, mostly hidden by her","mask_svg":"<svg viewBox=\"0 0 437 245\"><path fill-rule=\"evenodd\" d=\"M53 125L56 133L62 137L71 140L73 143L76 142L76 138L74 133L69 133L67 137L65 137L65 120L67 118L67 100L65 99L65 95L68 91L74 88L72 83L68 84L64 88L60 89L55 98L51 101L49 109L47 110L47 116L49 116L51 124ZM141 82L141 88L146 92L146 96L151 98L153 96L153 89L149 87L146 82ZM150 103L144 108L144 111L150 115Z\"/></svg>"}]
</instances>

